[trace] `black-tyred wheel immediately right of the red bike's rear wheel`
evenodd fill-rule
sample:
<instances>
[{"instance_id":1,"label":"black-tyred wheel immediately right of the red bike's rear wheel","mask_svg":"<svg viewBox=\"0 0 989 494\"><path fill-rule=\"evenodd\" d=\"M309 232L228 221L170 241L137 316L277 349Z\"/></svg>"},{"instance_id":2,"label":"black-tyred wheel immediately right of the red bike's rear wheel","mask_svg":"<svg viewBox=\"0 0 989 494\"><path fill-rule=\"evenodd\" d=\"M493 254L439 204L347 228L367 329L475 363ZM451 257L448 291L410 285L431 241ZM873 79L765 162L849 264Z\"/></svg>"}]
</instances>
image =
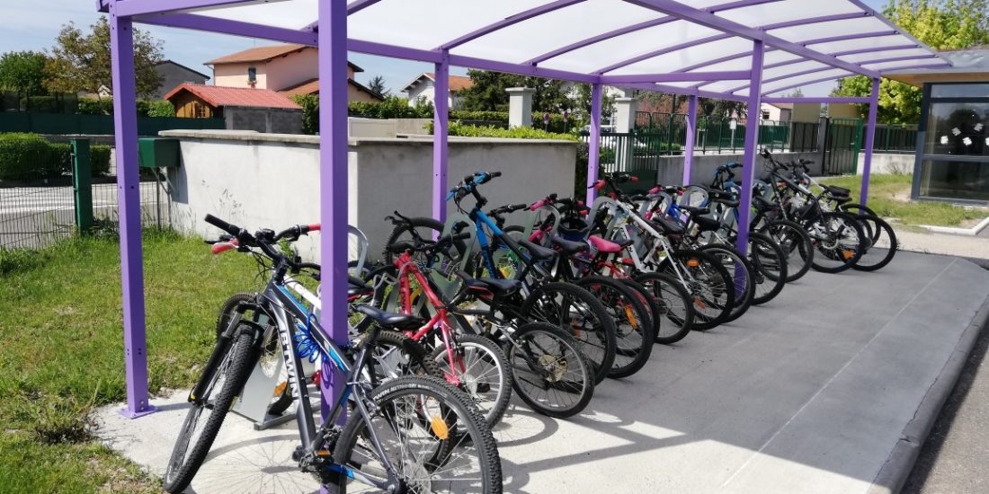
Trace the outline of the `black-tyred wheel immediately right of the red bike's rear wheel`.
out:
<instances>
[{"instance_id":1,"label":"black-tyred wheel immediately right of the red bike's rear wheel","mask_svg":"<svg viewBox=\"0 0 989 494\"><path fill-rule=\"evenodd\" d=\"M570 333L542 322L522 324L515 329L512 339L515 344L505 342L504 350L512 367L515 394L534 411L547 417L565 419L584 411L594 394L594 375L581 355L577 340ZM554 351L556 353L551 353ZM520 352L527 355L522 356ZM534 368L533 363L538 367ZM547 392L537 396L535 390L525 384ZM555 392L549 392L550 389ZM561 403L560 399L567 395L577 398L570 403Z\"/></svg>"}]
</instances>

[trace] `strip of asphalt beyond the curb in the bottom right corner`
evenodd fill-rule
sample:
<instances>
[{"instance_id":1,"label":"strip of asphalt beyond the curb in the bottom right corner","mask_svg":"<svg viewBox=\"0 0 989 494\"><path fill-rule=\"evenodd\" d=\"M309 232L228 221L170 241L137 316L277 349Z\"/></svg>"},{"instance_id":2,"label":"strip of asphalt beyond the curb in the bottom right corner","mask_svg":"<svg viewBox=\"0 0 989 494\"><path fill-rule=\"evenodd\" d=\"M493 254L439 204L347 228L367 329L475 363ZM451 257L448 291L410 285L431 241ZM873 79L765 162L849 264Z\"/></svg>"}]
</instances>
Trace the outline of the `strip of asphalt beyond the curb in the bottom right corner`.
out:
<instances>
[{"instance_id":1,"label":"strip of asphalt beyond the curb in the bottom right corner","mask_svg":"<svg viewBox=\"0 0 989 494\"><path fill-rule=\"evenodd\" d=\"M944 403L903 494L989 492L989 331L972 349L954 390Z\"/></svg>"}]
</instances>

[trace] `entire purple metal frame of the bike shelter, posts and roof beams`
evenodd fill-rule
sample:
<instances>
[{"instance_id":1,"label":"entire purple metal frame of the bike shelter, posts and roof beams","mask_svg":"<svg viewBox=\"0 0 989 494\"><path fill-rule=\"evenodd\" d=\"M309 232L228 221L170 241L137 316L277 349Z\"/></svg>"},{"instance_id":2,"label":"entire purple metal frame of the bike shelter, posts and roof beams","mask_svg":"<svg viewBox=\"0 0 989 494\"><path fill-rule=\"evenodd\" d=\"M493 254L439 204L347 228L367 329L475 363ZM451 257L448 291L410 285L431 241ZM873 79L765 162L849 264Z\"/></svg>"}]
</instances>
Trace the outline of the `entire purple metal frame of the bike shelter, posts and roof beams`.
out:
<instances>
[{"instance_id":1,"label":"entire purple metal frame of the bike shelter, posts and roof beams","mask_svg":"<svg viewBox=\"0 0 989 494\"><path fill-rule=\"evenodd\" d=\"M494 24L466 34L456 40L449 41L437 49L416 49L405 46L397 46L371 41L348 40L347 39L347 15L361 11L362 9L377 4L380 0L357 0L351 2L349 6L344 1L320 1L318 2L318 21L303 30L292 30L276 28L271 26L257 25L224 19L216 19L203 15L198 15L196 10L223 8L233 5L242 6L257 3L269 3L281 0L97 0L97 9L111 14L111 44L113 51L113 82L115 93L115 128L116 128L116 148L118 162L118 187L121 197L121 259L122 259L122 282L124 299L124 337L126 348L126 366L128 383L128 408L124 413L130 417L136 417L153 410L147 401L147 363L145 350L145 330L144 330L144 304L143 304L143 273L141 268L141 239L139 221L139 197L137 195L136 176L136 123L135 123L135 98L134 98L134 55L133 55L133 31L132 23L140 22L159 26L174 28L192 29L199 31L209 31L224 33L233 36L262 38L273 41L295 42L307 45L321 46L318 58L319 75L324 80L334 81L327 84L320 92L320 116L319 122L322 131L322 140L319 150L321 173L320 185L320 216L322 220L323 233L320 243L320 253L323 264L332 267L332 276L327 280L323 288L324 303L322 311L322 322L330 330L331 337L338 342L346 338L346 304L344 297L337 296L342 293L343 280L345 278L346 259L346 224L347 224L347 137L346 137L346 86L335 81L346 79L346 53L347 50L371 53L375 55L390 56L395 58L406 58L411 60L426 61L436 64L437 84L435 91L436 101L436 131L433 137L434 157L433 157L433 201L432 210L436 217L444 217L445 206L443 204L443 193L446 188L447 173L447 98L443 95L448 93L448 74L451 65L466 66L487 70L505 71L517 74L548 77L556 79L567 79L571 81L592 84L591 90L591 124L590 124L590 152L587 160L587 185L591 186L597 179L598 157L599 157L599 137L600 137L600 116L602 84L621 84L627 87L665 91L674 94L686 95L689 97L688 110L688 137L687 151L684 156L684 184L689 182L692 168L692 141L695 138L696 129L696 107L697 98L723 98L733 101L745 101L750 109L758 109L763 97L763 83L779 80L780 78L770 78L763 80L765 68L781 66L790 63L797 63L801 60L816 60L831 67L848 70L852 73L866 75L873 78L873 93L868 100L863 98L765 98L766 102L818 102L818 103L870 103L869 110L869 134L866 136L865 169L862 183L862 202L867 193L868 172L871 165L872 144L874 139L875 116L877 113L878 98L878 77L880 73L892 70L904 70L910 68L935 67L947 64L947 62L913 64L901 67L891 67L884 70L872 70L864 68L862 65L883 63L898 60L912 60L923 58L916 57L891 57L883 60L863 61L858 64L841 60L838 56L864 53L869 51L906 49L914 46L928 47L924 43L917 41L901 33L900 29L889 23L888 20L878 16L873 10L863 5L860 0L850 0L852 3L863 9L864 13L840 14L835 16L818 17L812 19L801 19L777 23L759 27L748 27L729 21L723 17L715 15L717 12L724 12L732 9L741 9L755 5L771 3L781 0L735 0L720 5L696 9L685 5L681 1L674 0L625 0L627 3L637 5L663 15L657 19L647 20L633 26L615 29L583 41L577 41L567 46L562 46L542 55L536 56L523 63L501 62L496 60L481 59L470 56L449 53L448 49L477 40L490 33L546 14L558 9L567 8L581 3L584 0L556 0L545 3L539 7L518 13ZM781 40L767 33L769 30L784 27L803 26L812 23L837 21L842 19L854 19L861 16L876 16L890 26L888 31L876 31L871 33L858 33L852 35L836 36L816 40L791 42ZM636 74L636 75L614 75L602 76L596 73L584 74L567 70L557 70L551 68L538 67L540 62L550 58L580 49L584 46L598 41L605 41L625 34L649 29L656 26L672 23L674 21L686 21L700 26L705 26L717 31L721 35L715 35L700 41L677 44L679 47L695 45L700 42L711 42L731 37L741 37L754 42L753 52L744 51L737 54L707 60L689 67L683 67L669 74ZM319 29L322 26L323 29ZM897 44L891 46L869 46L866 48L847 49L836 53L823 53L815 50L810 45L821 44L834 41L860 40L890 35L903 35L915 44ZM634 59L629 59L619 64L612 64L604 67L601 72L614 70L621 66L626 66L636 61L647 59L651 56L669 53L676 49L667 47L652 51L646 55L640 55ZM772 50L785 50L797 55L799 58L777 62L771 65L764 65L764 53ZM697 69L711 66L717 63L731 60L743 56L753 56L753 68L750 71L709 71L694 72ZM823 70L823 69L822 69ZM812 73L812 72L804 72ZM793 77L789 74L787 77ZM800 74L802 75L802 74ZM697 78L705 79L699 80ZM843 76L832 76L816 81L805 81L788 87L776 88L770 93L776 93L792 87L813 84L823 80L837 79ZM750 79L752 90L749 96L740 96L731 93L704 91L699 89L712 80L727 79ZM658 83L692 82L699 81L692 87L678 87ZM744 89L740 87L737 90ZM743 168L744 178L740 206L741 224L746 224L749 217L749 206L752 200L752 178L755 168L755 152L758 131L747 132L746 135L746 157ZM594 198L594 191L587 191L586 199L588 203ZM747 228L740 228L739 247L745 249ZM337 384L338 379L323 379L327 385L333 382Z\"/></svg>"}]
</instances>

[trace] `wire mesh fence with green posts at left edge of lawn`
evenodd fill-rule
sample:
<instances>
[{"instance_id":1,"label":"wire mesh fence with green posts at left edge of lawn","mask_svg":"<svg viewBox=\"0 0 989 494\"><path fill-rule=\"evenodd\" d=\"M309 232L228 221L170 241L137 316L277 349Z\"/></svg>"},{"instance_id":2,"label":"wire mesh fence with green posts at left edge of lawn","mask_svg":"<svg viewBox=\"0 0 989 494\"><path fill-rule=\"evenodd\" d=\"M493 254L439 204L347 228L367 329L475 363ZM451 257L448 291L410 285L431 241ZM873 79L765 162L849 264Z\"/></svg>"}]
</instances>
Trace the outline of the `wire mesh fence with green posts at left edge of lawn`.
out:
<instances>
[{"instance_id":1,"label":"wire mesh fence with green posts at left edge of lawn","mask_svg":"<svg viewBox=\"0 0 989 494\"><path fill-rule=\"evenodd\" d=\"M73 163L69 171L51 163L0 178L0 249L40 248L73 235L80 228L115 234L118 231L117 183L114 176L86 177L79 170L88 163ZM89 194L80 194L80 187ZM88 196L88 197L87 197ZM80 199L87 204L80 204ZM159 193L149 172L140 179L141 223L168 226L168 199ZM91 210L91 217L80 211ZM81 224L80 224L81 223Z\"/></svg>"}]
</instances>

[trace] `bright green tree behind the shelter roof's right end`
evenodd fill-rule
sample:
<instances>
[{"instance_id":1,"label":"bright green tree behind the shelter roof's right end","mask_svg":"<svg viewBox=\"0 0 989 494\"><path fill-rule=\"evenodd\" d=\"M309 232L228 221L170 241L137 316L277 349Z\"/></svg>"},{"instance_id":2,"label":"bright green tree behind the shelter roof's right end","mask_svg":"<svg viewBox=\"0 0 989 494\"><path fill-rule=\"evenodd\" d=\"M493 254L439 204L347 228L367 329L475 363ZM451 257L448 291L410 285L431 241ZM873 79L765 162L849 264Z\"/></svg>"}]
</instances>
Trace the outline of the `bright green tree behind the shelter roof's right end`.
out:
<instances>
[{"instance_id":1,"label":"bright green tree behind the shelter roof's right end","mask_svg":"<svg viewBox=\"0 0 989 494\"><path fill-rule=\"evenodd\" d=\"M883 14L935 49L961 49L989 42L989 0L889 0ZM865 76L843 79L833 96L869 96L872 82ZM859 105L863 118L868 106ZM917 124L921 115L919 88L888 79L879 86L878 120L886 124Z\"/></svg>"}]
</instances>

